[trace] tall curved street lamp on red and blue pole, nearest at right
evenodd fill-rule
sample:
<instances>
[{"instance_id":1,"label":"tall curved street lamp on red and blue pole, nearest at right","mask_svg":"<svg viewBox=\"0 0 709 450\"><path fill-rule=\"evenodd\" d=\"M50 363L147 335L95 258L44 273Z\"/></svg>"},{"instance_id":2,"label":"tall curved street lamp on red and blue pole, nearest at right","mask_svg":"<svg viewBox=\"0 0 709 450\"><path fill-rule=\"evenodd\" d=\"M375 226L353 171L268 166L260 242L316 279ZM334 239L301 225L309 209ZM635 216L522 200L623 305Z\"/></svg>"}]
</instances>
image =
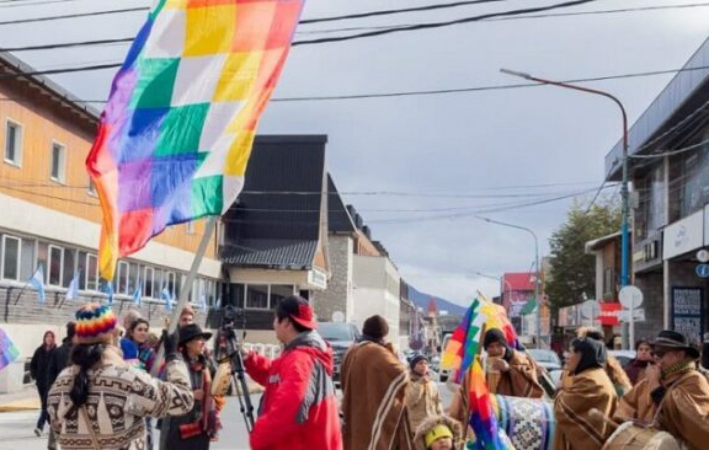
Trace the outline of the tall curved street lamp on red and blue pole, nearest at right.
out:
<instances>
[{"instance_id":1,"label":"tall curved street lamp on red and blue pole, nearest at right","mask_svg":"<svg viewBox=\"0 0 709 450\"><path fill-rule=\"evenodd\" d=\"M623 186L621 187L621 196L623 198L623 222L620 225L620 285L625 287L630 284L630 277L628 275L628 261L630 255L630 192L628 191L628 183L630 179L630 168L628 167L628 141L627 141L627 114L625 113L625 108L623 103L620 103L617 97L608 94L608 92L598 91L597 89L590 89L582 86L576 86L574 84L563 83L562 81L552 81L549 79L532 77L530 74L524 72L515 72L514 70L500 69L503 74L512 75L513 77L520 77L527 79L529 81L537 81L537 83L549 84L552 86L559 86L566 89L574 89L574 91L586 92L588 94L596 94L604 96L607 99L613 100L618 107L620 107L620 113L623 115Z\"/></svg>"}]
</instances>

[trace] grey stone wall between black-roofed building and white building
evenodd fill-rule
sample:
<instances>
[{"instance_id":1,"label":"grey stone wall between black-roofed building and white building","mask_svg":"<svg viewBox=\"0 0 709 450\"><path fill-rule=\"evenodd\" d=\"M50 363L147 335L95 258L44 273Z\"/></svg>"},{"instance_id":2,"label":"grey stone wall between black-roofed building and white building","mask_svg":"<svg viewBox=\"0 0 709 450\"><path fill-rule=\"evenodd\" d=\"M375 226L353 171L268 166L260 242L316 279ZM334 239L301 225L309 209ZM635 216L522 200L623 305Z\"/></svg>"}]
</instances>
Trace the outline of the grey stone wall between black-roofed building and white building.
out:
<instances>
[{"instance_id":1,"label":"grey stone wall between black-roofed building and white building","mask_svg":"<svg viewBox=\"0 0 709 450\"><path fill-rule=\"evenodd\" d=\"M328 288L323 292L313 293L313 305L318 320L328 322L333 320L337 311L345 315L345 321L354 319L352 299L352 276L354 264L354 241L349 235L329 236L328 250L330 252L330 271Z\"/></svg>"}]
</instances>

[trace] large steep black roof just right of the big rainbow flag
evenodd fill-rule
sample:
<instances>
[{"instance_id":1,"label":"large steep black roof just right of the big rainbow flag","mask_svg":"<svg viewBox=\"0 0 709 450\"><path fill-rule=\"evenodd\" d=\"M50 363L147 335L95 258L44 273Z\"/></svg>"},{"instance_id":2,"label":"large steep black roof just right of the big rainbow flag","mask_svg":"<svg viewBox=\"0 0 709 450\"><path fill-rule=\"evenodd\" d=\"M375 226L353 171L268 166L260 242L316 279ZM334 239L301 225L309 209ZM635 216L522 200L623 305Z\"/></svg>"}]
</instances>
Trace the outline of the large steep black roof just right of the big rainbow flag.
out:
<instances>
[{"instance_id":1,"label":"large steep black roof just right of the big rainbow flag","mask_svg":"<svg viewBox=\"0 0 709 450\"><path fill-rule=\"evenodd\" d=\"M327 193L327 141L323 135L256 137L244 189L223 216L225 264L312 266Z\"/></svg>"}]
</instances>

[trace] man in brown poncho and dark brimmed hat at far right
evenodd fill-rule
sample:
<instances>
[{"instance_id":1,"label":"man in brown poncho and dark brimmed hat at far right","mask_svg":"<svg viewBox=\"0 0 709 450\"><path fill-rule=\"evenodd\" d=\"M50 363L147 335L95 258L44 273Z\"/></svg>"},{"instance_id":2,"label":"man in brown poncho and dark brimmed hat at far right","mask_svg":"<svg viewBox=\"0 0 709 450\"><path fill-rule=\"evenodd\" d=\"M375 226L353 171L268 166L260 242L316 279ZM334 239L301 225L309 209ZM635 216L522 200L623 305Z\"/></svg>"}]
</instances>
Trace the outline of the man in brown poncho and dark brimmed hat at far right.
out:
<instances>
[{"instance_id":1,"label":"man in brown poncho and dark brimmed hat at far right","mask_svg":"<svg viewBox=\"0 0 709 450\"><path fill-rule=\"evenodd\" d=\"M620 400L614 419L640 420L681 439L690 450L709 446L709 383L697 371L699 351L679 332L653 342L655 360L645 379Z\"/></svg>"}]
</instances>

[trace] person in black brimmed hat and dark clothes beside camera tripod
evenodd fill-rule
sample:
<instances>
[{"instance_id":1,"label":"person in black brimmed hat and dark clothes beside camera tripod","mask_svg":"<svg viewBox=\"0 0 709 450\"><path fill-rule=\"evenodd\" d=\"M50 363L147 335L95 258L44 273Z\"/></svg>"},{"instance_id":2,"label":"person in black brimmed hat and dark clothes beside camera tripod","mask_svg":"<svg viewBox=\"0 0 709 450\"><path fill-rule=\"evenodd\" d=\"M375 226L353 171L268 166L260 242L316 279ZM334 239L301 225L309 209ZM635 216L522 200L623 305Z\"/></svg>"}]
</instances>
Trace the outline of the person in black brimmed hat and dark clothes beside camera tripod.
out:
<instances>
[{"instance_id":1,"label":"person in black brimmed hat and dark clothes beside camera tripod","mask_svg":"<svg viewBox=\"0 0 709 450\"><path fill-rule=\"evenodd\" d=\"M196 324L179 329L179 347L189 369L194 407L186 415L162 420L160 450L208 450L221 428L218 412L223 402L211 393L214 374L204 356L204 345L211 337Z\"/></svg>"}]
</instances>

